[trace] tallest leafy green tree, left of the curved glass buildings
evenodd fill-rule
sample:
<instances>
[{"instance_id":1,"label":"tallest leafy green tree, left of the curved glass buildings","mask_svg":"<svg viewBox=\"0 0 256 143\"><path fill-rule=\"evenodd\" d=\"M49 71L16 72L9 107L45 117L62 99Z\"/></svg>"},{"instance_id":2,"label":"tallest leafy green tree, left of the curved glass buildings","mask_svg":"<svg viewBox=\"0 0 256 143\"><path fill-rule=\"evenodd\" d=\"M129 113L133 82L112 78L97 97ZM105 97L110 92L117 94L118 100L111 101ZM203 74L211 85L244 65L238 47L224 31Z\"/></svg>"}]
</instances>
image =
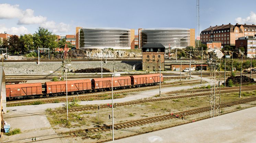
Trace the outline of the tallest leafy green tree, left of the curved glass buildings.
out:
<instances>
[{"instance_id":1,"label":"tallest leafy green tree, left of the curved glass buildings","mask_svg":"<svg viewBox=\"0 0 256 143\"><path fill-rule=\"evenodd\" d=\"M39 27L38 31L33 34L33 41L35 49L39 47L54 49L57 47L57 37L52 34L48 29Z\"/></svg>"}]
</instances>

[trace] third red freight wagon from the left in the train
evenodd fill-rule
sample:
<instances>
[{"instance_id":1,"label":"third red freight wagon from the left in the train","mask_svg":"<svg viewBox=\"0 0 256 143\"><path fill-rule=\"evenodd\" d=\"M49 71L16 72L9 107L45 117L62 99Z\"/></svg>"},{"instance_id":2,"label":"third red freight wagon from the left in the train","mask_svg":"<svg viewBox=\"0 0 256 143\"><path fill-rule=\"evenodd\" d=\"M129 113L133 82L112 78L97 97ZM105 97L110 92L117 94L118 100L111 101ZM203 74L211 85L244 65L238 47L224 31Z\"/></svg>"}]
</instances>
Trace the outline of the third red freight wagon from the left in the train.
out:
<instances>
[{"instance_id":1,"label":"third red freight wagon from the left in the train","mask_svg":"<svg viewBox=\"0 0 256 143\"><path fill-rule=\"evenodd\" d=\"M113 87L127 87L131 86L131 77L130 76L120 76L113 77ZM92 89L104 89L104 88L112 88L112 77L105 78L93 78L92 79Z\"/></svg>"}]
</instances>

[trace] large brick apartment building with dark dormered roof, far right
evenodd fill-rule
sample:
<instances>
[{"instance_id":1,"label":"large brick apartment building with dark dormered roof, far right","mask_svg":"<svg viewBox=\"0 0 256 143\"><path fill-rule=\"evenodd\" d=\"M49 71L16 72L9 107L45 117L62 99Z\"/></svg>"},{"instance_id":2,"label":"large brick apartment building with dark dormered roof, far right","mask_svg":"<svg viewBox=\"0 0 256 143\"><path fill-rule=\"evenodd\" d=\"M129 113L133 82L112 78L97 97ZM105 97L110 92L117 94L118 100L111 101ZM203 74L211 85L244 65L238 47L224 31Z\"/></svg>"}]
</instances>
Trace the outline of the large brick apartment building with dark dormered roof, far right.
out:
<instances>
[{"instance_id":1,"label":"large brick apartment building with dark dormered roof, far right","mask_svg":"<svg viewBox=\"0 0 256 143\"><path fill-rule=\"evenodd\" d=\"M231 23L227 25L216 25L210 26L209 28L202 30L200 33L201 43L205 42L221 42L222 46L230 45L235 46L235 40L240 37L255 35L256 26L247 24L232 25Z\"/></svg>"}]
</instances>

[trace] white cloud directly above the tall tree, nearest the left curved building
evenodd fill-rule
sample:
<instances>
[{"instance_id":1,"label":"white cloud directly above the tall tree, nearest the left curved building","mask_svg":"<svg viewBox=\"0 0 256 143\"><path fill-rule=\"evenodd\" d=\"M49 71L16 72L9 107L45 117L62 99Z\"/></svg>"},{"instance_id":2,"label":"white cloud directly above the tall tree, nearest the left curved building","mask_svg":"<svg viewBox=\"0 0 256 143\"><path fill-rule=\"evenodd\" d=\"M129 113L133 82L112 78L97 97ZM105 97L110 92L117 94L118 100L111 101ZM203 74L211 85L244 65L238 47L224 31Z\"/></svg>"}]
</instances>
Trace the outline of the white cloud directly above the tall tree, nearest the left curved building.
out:
<instances>
[{"instance_id":1,"label":"white cloud directly above the tall tree, nearest the left curved building","mask_svg":"<svg viewBox=\"0 0 256 143\"><path fill-rule=\"evenodd\" d=\"M45 23L40 24L41 27L47 28L53 33L62 33L62 32L69 32L70 25L65 23L56 24L54 21L48 21Z\"/></svg>"}]
</instances>

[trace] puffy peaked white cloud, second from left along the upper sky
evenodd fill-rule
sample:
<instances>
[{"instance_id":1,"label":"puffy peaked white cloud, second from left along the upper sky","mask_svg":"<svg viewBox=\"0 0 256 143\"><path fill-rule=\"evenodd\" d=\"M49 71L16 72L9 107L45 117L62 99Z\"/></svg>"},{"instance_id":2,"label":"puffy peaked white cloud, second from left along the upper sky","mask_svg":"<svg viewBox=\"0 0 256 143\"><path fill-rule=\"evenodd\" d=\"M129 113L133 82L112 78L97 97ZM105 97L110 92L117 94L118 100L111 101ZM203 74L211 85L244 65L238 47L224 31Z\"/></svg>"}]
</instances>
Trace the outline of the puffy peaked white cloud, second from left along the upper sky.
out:
<instances>
[{"instance_id":1,"label":"puffy peaked white cloud, second from left along the upper sky","mask_svg":"<svg viewBox=\"0 0 256 143\"><path fill-rule=\"evenodd\" d=\"M41 15L34 16L34 11L32 9L26 9L23 12L22 18L18 21L18 24L41 24L46 21L46 17Z\"/></svg>"}]
</instances>

